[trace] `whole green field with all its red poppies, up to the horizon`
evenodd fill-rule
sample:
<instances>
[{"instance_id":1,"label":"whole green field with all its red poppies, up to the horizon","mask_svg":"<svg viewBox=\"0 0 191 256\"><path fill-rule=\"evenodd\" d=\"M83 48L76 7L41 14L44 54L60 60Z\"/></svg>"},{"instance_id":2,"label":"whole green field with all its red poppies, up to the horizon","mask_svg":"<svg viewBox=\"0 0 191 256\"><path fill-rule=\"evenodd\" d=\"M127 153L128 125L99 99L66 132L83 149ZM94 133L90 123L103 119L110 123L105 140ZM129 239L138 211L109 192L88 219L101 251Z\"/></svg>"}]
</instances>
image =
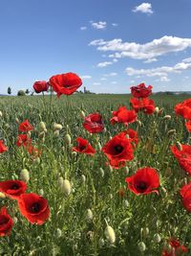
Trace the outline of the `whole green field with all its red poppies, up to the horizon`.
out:
<instances>
[{"instance_id":1,"label":"whole green field with all its red poppies, up to the horizon","mask_svg":"<svg viewBox=\"0 0 191 256\"><path fill-rule=\"evenodd\" d=\"M0 99L0 255L191 255L191 99L81 85Z\"/></svg>"}]
</instances>

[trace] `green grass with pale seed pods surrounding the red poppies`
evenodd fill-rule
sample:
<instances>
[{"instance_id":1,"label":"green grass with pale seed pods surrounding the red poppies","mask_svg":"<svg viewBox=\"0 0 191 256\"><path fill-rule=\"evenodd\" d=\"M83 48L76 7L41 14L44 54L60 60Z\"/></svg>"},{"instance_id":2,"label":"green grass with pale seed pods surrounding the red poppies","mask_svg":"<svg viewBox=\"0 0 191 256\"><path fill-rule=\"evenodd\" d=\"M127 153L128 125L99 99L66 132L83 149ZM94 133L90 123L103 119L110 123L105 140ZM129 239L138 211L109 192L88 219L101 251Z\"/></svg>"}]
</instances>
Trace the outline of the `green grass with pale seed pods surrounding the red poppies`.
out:
<instances>
[{"instance_id":1,"label":"green grass with pale seed pods surrounding the red poppies","mask_svg":"<svg viewBox=\"0 0 191 256\"><path fill-rule=\"evenodd\" d=\"M138 112L141 125L136 122L128 127L138 131L134 159L115 170L106 164L101 148L126 129L123 124L112 126L110 119L119 105L130 107L130 97L78 94L60 99L53 96L52 100L49 96L0 98L0 139L9 149L0 154L0 181L20 179L22 170L27 169L27 193L46 198L51 210L44 224L32 224L20 214L16 200L1 195L1 207L7 206L14 224L11 235L0 239L0 255L158 256L163 248L170 250L171 238L191 248L190 213L182 207L179 193L190 177L170 150L178 142L190 143L183 120L174 113L174 106L189 95L151 97L163 112ZM90 134L85 130L82 110L86 116L99 112L104 131ZM171 118L164 118L166 115ZM16 146L18 126L26 119L34 128L30 136L32 145L41 151L38 156ZM40 122L46 124L43 134ZM59 132L53 131L53 123L62 125ZM77 137L87 139L96 154L72 151ZM158 171L159 196L137 196L127 189L125 178L145 166ZM71 188L63 188L63 179L70 181Z\"/></svg>"}]
</instances>

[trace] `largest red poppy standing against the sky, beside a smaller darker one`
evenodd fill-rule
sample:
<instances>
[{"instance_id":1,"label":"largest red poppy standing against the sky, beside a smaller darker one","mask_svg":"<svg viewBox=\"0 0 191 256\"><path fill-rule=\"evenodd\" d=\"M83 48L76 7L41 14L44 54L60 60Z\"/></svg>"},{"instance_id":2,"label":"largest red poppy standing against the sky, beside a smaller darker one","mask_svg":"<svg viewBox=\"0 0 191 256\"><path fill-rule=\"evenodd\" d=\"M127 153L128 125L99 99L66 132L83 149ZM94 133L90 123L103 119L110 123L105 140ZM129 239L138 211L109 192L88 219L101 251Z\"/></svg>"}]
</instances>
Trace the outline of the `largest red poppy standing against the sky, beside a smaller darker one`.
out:
<instances>
[{"instance_id":1,"label":"largest red poppy standing against the sky, beside a smaller darker one","mask_svg":"<svg viewBox=\"0 0 191 256\"><path fill-rule=\"evenodd\" d=\"M57 93L57 97L61 94L73 94L82 84L81 79L74 73L53 76L49 82L53 87L53 91Z\"/></svg>"}]
</instances>

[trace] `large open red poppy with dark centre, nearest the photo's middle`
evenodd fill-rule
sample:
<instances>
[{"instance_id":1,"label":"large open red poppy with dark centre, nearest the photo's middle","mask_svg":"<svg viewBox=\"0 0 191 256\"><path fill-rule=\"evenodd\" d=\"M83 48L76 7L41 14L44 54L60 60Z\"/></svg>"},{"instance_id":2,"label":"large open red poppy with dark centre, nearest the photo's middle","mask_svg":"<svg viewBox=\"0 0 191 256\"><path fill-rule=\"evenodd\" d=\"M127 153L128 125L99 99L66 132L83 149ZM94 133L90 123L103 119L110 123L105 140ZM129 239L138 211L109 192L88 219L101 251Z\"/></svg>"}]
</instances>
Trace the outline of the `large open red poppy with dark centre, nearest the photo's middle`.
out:
<instances>
[{"instance_id":1,"label":"large open red poppy with dark centre, nearest the photo's middle","mask_svg":"<svg viewBox=\"0 0 191 256\"><path fill-rule=\"evenodd\" d=\"M110 165L116 169L123 167L126 161L134 158L131 140L126 138L126 134L126 131L118 133L102 148L110 160Z\"/></svg>"}]
</instances>

